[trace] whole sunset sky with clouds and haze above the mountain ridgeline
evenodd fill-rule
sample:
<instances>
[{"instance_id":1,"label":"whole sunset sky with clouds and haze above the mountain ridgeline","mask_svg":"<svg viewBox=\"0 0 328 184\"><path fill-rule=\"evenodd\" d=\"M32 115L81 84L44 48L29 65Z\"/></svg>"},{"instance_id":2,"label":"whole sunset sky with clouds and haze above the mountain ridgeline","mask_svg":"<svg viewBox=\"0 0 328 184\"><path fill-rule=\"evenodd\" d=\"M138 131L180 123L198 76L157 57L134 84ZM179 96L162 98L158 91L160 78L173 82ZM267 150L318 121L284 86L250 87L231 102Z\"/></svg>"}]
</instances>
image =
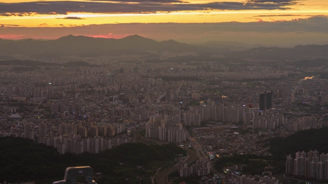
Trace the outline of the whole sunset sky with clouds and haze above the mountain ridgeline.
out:
<instances>
[{"instance_id":1,"label":"whole sunset sky with clouds and haze above the mountain ridgeline","mask_svg":"<svg viewBox=\"0 0 328 184\"><path fill-rule=\"evenodd\" d=\"M0 0L0 38L327 44L327 16L327 0Z\"/></svg>"}]
</instances>

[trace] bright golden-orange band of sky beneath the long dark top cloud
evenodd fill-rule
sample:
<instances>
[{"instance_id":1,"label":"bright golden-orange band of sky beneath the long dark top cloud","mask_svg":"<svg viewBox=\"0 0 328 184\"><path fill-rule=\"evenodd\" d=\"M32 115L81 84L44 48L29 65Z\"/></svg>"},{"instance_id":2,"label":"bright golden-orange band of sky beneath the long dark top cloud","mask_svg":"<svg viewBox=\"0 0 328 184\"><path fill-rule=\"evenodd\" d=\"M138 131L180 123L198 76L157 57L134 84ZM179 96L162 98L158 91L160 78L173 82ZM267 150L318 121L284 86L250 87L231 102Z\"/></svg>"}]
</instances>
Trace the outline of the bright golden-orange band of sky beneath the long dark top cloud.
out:
<instances>
[{"instance_id":1,"label":"bright golden-orange band of sky beneath the long dark top cloud","mask_svg":"<svg viewBox=\"0 0 328 184\"><path fill-rule=\"evenodd\" d=\"M53 14L38 14L33 13L30 15L24 16L1 16L4 13L13 13L15 12L14 3L30 2L30 4L37 4L40 2L32 0L0 0L0 2L12 4L11 12L6 12L6 10L1 10L0 8L0 25L18 25L22 27L61 27L61 26L80 26L80 25L93 25L93 24L117 24L117 23L130 23L130 22L226 22L226 21L241 21L241 22L250 22L250 21L275 21L275 20L291 20L295 18L304 18L313 15L328 15L328 1L326 0L307 0L307 1L288 1L285 2L297 2L295 5L281 6L276 9L247 9L247 8L235 8L235 10L225 10L224 7L218 8L209 8L207 10L167 10L155 12L146 12L146 13L137 13L137 12L106 12L97 13L93 10L92 13L88 12L88 7L84 7L86 12L69 12L63 14L60 12L54 12ZM126 0L125 0L126 1ZM250 1L250 0L248 0ZM188 4L196 5L197 4L206 4L212 2L240 2L248 3L248 1L238 1L238 0L225 0L225 1L209 1L209 0L191 0L188 1ZM256 0L253 0L256 1ZM43 4L50 3L55 1L42 1ZM56 1L58 2L58 1ZM63 2L63 9L65 9L65 2L76 2L79 1L61 1ZM94 3L95 1L89 1ZM97 4L108 4L102 2L96 2ZM142 2L142 1L141 1ZM275 0L271 0L275 2ZM269 0L268 3L272 4ZM112 2L113 3L113 2ZM17 5L18 5L17 4ZM113 4L118 4L117 2ZM166 3L167 5L172 5L172 3ZM176 3L175 3L176 4ZM1 6L1 5L0 5ZM26 5L22 5L26 6ZM78 6L75 5L75 6ZM92 6L92 4L90 5ZM125 5L129 9L129 5ZM18 6L17 6L18 7ZM18 9L18 8L17 8ZM31 8L33 9L33 8ZM37 8L35 8L37 9ZM96 9L96 8L95 8ZM188 8L187 8L188 9ZM2 12L1 12L2 11ZM124 10L123 10L124 11ZM133 11L133 10L132 10ZM150 9L149 11L153 11ZM21 10L17 10L18 13L22 13ZM159 12L159 13L158 13ZM26 12L25 12L26 13ZM30 12L27 12L30 13ZM260 16L259 15L265 15ZM270 16L269 16L270 15ZM279 15L279 16L277 16ZM288 16L284 16L288 15ZM68 19L66 19L69 17ZM73 19L74 18L74 19Z\"/></svg>"}]
</instances>

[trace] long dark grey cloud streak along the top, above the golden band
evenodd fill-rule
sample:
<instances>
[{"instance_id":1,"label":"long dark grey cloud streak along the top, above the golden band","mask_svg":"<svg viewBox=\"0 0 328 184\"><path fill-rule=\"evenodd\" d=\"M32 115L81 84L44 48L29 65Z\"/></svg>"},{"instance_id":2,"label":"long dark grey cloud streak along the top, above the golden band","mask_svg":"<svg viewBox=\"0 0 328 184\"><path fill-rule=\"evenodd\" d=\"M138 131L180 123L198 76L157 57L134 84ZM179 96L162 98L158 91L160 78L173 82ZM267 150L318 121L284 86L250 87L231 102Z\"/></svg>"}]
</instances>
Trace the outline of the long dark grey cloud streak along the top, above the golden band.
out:
<instances>
[{"instance_id":1,"label":"long dark grey cloud streak along the top, above the golden band","mask_svg":"<svg viewBox=\"0 0 328 184\"><path fill-rule=\"evenodd\" d=\"M117 0L115 0L117 1ZM154 1L154 0L153 0ZM242 2L211 2L203 4L173 3L176 0L159 0L156 3L146 0L138 0L139 3L126 2L22 2L0 3L0 14L4 16L25 16L29 14L67 14L69 12L90 13L152 13L193 10L284 10L290 9L291 4L297 1L278 0L264 1L252 0ZM160 2L160 3L158 3ZM165 2L165 3L163 3Z\"/></svg>"}]
</instances>

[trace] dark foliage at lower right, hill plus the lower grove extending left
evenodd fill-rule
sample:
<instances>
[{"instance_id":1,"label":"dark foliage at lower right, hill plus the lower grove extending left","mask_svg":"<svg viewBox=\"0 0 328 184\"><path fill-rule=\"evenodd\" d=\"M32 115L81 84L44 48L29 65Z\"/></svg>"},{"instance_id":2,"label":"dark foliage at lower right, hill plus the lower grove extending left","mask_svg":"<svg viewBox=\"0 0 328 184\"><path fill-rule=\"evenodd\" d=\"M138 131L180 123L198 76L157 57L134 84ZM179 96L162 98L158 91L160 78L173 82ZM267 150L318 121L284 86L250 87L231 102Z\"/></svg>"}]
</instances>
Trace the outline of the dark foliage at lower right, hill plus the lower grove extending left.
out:
<instances>
[{"instance_id":1,"label":"dark foliage at lower right, hill plus the lower grove extending left","mask_svg":"<svg viewBox=\"0 0 328 184\"><path fill-rule=\"evenodd\" d=\"M310 129L296 132L287 137L277 137L270 141L270 153L273 156L233 155L221 157L214 167L220 171L223 167L242 165L242 172L259 174L265 166L273 166L275 173L282 173L285 169L285 158L297 151L318 150L328 153L328 128Z\"/></svg>"}]
</instances>

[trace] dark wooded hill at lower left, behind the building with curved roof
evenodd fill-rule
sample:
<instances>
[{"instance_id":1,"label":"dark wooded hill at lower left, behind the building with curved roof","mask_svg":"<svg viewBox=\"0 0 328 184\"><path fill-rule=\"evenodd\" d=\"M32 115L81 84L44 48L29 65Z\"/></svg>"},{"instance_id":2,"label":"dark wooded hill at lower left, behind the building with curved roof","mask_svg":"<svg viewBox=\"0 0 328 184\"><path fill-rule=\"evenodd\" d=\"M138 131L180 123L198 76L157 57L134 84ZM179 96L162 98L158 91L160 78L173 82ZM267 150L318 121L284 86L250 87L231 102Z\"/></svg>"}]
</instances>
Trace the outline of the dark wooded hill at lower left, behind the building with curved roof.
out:
<instances>
[{"instance_id":1,"label":"dark wooded hill at lower left, behind the building with curved roof","mask_svg":"<svg viewBox=\"0 0 328 184\"><path fill-rule=\"evenodd\" d=\"M168 162L177 154L186 154L186 151L174 144L148 146L142 143L127 143L98 154L58 154L55 148L32 140L0 137L0 178L9 182L51 182L50 178L52 181L63 179L67 167L91 166L94 172L101 172L104 178L111 178L111 183L120 183L115 179L122 179L121 183L124 183L136 166ZM109 181L104 178L100 178L97 183Z\"/></svg>"}]
</instances>

